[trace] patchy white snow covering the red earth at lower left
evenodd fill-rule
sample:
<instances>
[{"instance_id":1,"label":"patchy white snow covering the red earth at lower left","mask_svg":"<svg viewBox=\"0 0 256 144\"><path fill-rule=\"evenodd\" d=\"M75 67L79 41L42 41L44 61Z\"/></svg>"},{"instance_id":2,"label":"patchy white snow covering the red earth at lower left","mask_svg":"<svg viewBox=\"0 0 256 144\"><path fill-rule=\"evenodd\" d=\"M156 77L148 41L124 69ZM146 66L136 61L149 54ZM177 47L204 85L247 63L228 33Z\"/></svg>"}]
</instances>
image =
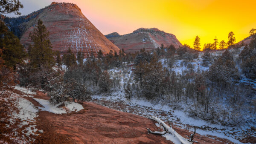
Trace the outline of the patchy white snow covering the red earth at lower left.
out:
<instances>
[{"instance_id":1,"label":"patchy white snow covering the red earth at lower left","mask_svg":"<svg viewBox=\"0 0 256 144\"><path fill-rule=\"evenodd\" d=\"M48 111L52 113L57 114L64 114L68 112L78 112L81 109L83 109L83 106L81 104L72 102L70 104L66 105L66 109L58 108L53 106L49 103L47 100L34 98L36 101L38 101L43 107L35 107L32 102L27 100L25 97L33 97L32 95L36 95L36 92L31 92L29 89L15 86L16 90L19 90L20 92L23 92L24 95L18 95L16 93L12 93L12 97L17 99L17 108L20 110L19 113L13 113L13 119L10 119L10 121L15 122L15 119L19 119L20 121L18 123L18 127L22 128L21 130L21 136L17 137L15 136L15 139L19 141L20 143L29 143L31 141L34 141L33 138L31 138L31 135L38 135L39 133L43 133L43 130L38 130L36 127L36 120L35 118L38 117L39 111ZM10 127L9 125L6 125L6 127ZM29 139L26 139L28 137Z\"/></svg>"}]
</instances>

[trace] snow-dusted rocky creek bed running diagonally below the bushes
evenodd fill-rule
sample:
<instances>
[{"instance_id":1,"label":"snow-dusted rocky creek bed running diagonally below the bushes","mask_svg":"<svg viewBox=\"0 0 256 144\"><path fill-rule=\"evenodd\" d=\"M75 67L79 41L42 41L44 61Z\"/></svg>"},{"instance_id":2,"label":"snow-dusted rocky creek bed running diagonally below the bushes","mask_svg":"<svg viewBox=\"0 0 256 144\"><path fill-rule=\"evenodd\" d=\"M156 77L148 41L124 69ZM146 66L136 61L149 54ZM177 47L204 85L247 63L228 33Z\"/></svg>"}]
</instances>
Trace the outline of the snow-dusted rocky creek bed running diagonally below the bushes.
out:
<instances>
[{"instance_id":1,"label":"snow-dusted rocky creek bed running diagonally below the bushes","mask_svg":"<svg viewBox=\"0 0 256 144\"><path fill-rule=\"evenodd\" d=\"M241 143L236 138L247 135L247 129L250 129L250 127L227 127L219 124L211 124L204 120L191 118L185 112L175 110L168 105L162 105L160 103L153 104L145 99L131 98L131 100L128 100L123 95L123 93L115 93L108 96L93 95L93 102L144 117L157 116L163 121L171 121L176 127L190 131L194 131L193 127L198 127L196 133L200 135L226 138L236 144ZM256 133L254 136L256 136ZM214 139L214 137L211 138Z\"/></svg>"}]
</instances>

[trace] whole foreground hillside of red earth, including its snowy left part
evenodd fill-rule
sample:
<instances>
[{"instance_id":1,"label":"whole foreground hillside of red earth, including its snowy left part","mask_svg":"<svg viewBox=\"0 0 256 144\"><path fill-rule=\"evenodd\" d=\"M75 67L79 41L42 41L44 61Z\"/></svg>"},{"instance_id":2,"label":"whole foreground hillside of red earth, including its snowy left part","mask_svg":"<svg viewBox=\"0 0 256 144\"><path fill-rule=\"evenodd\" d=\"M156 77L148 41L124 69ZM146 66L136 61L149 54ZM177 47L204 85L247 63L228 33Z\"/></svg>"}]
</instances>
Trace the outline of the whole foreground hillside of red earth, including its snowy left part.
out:
<instances>
[{"instance_id":1,"label":"whole foreground hillside of red earth, including its snowy left part","mask_svg":"<svg viewBox=\"0 0 256 144\"><path fill-rule=\"evenodd\" d=\"M159 143L173 144L165 136L149 134L146 128L161 131L155 121L148 118L121 112L92 102L75 106L82 107L73 112L64 112L62 108L48 104L43 92L31 92L29 89L15 87L13 95L19 100L22 120L19 125L21 135L17 142L50 143ZM122 103L120 103L122 105ZM182 137L192 132L173 127ZM223 138L209 138L195 134L194 143L232 143Z\"/></svg>"}]
</instances>

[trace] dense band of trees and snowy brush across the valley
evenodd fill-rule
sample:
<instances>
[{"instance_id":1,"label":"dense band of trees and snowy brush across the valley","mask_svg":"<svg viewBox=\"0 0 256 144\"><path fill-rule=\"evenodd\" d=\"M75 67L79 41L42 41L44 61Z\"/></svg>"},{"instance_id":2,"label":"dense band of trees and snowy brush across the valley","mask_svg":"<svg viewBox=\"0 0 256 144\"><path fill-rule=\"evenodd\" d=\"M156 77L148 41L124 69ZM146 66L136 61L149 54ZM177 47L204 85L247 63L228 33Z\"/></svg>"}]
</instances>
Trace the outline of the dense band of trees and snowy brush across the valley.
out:
<instances>
[{"instance_id":1,"label":"dense band of trees and snowy brush across the valley","mask_svg":"<svg viewBox=\"0 0 256 144\"><path fill-rule=\"evenodd\" d=\"M60 52L52 52L49 32L41 20L29 35L34 44L29 46L28 55L17 37L16 43L8 44L15 36L4 24L0 26L4 33L0 47L4 63L10 71L17 71L21 86L43 89L52 104L90 101L91 95L119 91L128 99L146 98L172 104L174 108L186 109L191 116L222 124L236 125L246 121L242 117L244 111L255 112L255 103L248 101L255 93L239 83L241 75L256 78L255 30L250 32L253 39L249 46L242 51L227 49L221 56L210 51L201 53L186 44L177 49L162 44L156 50L141 49L127 54L123 49L110 50L106 55L99 50L84 59L81 51L73 53L69 49L62 57ZM199 48L198 42L199 37L194 45ZM6 56L12 49L19 53ZM200 65L209 69L192 64L198 59L202 60ZM177 65L186 69L175 72L173 68ZM123 76L113 75L114 68L123 71Z\"/></svg>"}]
</instances>

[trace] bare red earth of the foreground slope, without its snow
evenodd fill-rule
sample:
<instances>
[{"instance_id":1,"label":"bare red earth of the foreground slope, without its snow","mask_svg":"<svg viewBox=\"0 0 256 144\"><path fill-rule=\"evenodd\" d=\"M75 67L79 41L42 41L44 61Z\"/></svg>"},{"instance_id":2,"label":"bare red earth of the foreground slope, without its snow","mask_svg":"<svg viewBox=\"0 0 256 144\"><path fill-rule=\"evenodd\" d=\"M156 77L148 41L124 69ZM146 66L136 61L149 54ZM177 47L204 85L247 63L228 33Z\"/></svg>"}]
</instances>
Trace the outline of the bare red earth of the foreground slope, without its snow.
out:
<instances>
[{"instance_id":1,"label":"bare red earth of the foreground slope, without its snow","mask_svg":"<svg viewBox=\"0 0 256 144\"><path fill-rule=\"evenodd\" d=\"M22 92L15 90L22 95ZM49 99L43 92L37 92L34 98ZM31 97L23 97L31 101L35 107L42 107ZM47 111L38 112L35 124L39 136L34 136L35 143L86 143L86 144L172 144L160 135L148 134L146 128L160 130L155 121L148 118L121 112L92 102L84 102L84 109L68 114L53 114ZM192 132L173 127L184 138ZM208 138L195 134L194 144L222 144L232 142L221 138Z\"/></svg>"}]
</instances>

